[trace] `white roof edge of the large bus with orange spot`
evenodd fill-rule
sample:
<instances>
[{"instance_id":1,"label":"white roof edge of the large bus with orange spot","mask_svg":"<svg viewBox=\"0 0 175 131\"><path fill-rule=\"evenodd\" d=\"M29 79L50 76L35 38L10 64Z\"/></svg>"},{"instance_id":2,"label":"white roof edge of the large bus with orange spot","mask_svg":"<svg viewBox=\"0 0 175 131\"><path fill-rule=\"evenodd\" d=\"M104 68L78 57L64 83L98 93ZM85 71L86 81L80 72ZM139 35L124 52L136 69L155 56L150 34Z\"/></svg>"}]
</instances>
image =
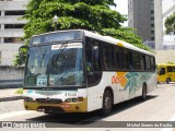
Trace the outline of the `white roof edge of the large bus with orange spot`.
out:
<instances>
[{"instance_id":1,"label":"white roof edge of the large bus with orange spot","mask_svg":"<svg viewBox=\"0 0 175 131\"><path fill-rule=\"evenodd\" d=\"M110 43L113 45L117 45L117 46L120 46L120 47L125 47L125 48L128 48L128 49L131 49L131 50L136 50L136 51L139 51L139 52L143 52L143 53L147 53L147 55L154 56L153 52L140 49L140 48L138 48L138 47L136 47L136 46L133 46L129 43L126 43L124 40L119 40L119 39L116 39L116 38L110 37L110 36L102 36L97 33L93 33L91 31L85 31L85 29L65 29L65 31L56 31L56 32L44 33L44 34L39 34L39 35L46 35L46 34L57 33L57 32L70 32L70 31L82 31L82 32L84 32L85 36L89 36L89 37L92 37L92 38L95 38L95 39L98 39L98 40L103 40L103 41L106 41L106 43ZM32 37L39 36L39 35L34 35Z\"/></svg>"}]
</instances>

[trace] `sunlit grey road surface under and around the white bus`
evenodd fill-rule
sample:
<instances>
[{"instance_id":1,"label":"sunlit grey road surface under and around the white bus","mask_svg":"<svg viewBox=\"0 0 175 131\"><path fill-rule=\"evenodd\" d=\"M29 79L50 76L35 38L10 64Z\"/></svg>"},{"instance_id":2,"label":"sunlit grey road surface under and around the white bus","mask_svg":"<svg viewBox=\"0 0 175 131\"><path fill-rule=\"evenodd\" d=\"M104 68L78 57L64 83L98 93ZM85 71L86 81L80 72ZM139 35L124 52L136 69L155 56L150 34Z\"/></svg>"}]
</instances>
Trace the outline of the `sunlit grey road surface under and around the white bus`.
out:
<instances>
[{"instance_id":1,"label":"sunlit grey road surface under and around the white bus","mask_svg":"<svg viewBox=\"0 0 175 131\"><path fill-rule=\"evenodd\" d=\"M141 102L140 98L133 98L115 105L113 114L108 117L102 117L97 111L89 114L46 115L44 112L20 110L2 114L0 121L46 122L47 127L63 127L63 130L71 131L78 131L78 128L79 130L85 131L88 128L94 127L95 128L93 130L100 131L171 131L173 130L172 128L124 129L116 127L117 124L120 124L117 121L175 121L175 83L171 83L168 85L160 84L155 91L148 95L148 99L145 102ZM69 129L66 129L66 127ZM51 130L54 130L54 128L51 128Z\"/></svg>"}]
</instances>

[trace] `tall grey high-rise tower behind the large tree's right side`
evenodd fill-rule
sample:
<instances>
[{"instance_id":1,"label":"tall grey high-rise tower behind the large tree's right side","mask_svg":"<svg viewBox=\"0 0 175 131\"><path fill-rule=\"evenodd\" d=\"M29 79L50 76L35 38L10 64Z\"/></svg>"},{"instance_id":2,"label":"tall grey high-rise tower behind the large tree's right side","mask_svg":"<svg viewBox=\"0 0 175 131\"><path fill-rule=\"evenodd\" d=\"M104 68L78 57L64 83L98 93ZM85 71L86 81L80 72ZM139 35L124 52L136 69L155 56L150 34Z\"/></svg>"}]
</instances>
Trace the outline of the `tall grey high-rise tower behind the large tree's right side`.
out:
<instances>
[{"instance_id":1,"label":"tall grey high-rise tower behind the large tree's right side","mask_svg":"<svg viewBox=\"0 0 175 131\"><path fill-rule=\"evenodd\" d=\"M136 28L143 41L154 43L154 0L128 0L128 26Z\"/></svg>"}]
</instances>

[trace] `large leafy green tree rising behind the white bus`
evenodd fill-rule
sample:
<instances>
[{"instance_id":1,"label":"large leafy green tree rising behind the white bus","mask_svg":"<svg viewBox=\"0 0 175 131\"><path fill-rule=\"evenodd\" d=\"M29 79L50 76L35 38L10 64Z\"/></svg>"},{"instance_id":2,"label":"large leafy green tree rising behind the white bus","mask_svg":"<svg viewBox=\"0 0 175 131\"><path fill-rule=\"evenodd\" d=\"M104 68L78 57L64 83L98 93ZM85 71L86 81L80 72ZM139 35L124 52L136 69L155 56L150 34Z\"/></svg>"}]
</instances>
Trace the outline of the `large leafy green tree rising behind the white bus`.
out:
<instances>
[{"instance_id":1,"label":"large leafy green tree rising behind the white bus","mask_svg":"<svg viewBox=\"0 0 175 131\"><path fill-rule=\"evenodd\" d=\"M58 29L95 31L148 49L132 29L121 26L127 17L112 10L112 5L116 5L114 0L31 0L22 16L27 20L23 39L27 45L33 35L54 31L52 17L57 15Z\"/></svg>"}]
</instances>

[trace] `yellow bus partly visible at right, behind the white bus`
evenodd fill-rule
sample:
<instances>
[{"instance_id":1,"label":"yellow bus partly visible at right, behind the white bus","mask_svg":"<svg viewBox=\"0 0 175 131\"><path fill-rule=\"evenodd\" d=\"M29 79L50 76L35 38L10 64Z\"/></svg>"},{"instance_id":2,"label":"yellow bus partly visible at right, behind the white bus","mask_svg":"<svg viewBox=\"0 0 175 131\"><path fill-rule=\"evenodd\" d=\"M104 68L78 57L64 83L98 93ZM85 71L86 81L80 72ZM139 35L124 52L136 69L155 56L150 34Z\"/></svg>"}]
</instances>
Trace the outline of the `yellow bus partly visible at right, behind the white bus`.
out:
<instances>
[{"instance_id":1,"label":"yellow bus partly visible at right, behind the white bus","mask_svg":"<svg viewBox=\"0 0 175 131\"><path fill-rule=\"evenodd\" d=\"M175 64L159 63L158 64L158 83L175 82Z\"/></svg>"}]
</instances>

